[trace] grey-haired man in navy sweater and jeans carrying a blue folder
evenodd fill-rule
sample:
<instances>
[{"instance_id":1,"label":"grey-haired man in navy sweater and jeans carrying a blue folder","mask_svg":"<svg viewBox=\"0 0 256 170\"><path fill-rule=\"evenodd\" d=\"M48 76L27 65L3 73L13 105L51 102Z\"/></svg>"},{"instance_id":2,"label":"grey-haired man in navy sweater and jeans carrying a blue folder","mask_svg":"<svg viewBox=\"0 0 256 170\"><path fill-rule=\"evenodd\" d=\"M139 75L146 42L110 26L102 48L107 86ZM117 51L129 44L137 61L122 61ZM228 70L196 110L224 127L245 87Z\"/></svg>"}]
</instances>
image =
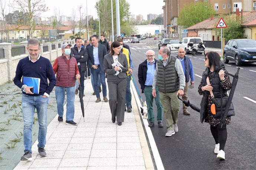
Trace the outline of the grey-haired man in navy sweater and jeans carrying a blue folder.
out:
<instances>
[{"instance_id":1,"label":"grey-haired man in navy sweater and jeans carrying a blue folder","mask_svg":"<svg viewBox=\"0 0 256 170\"><path fill-rule=\"evenodd\" d=\"M47 133L47 106L49 95L52 92L56 78L49 59L39 55L40 42L36 39L30 39L27 43L29 56L19 61L14 77L14 84L22 89L22 115L24 120L24 155L20 160L32 160L32 125L37 110L39 123L38 133L38 153L40 157L45 157L45 144ZM40 78L39 94L33 93L33 86L27 86L21 81L22 76ZM48 80L50 83L48 84Z\"/></svg>"}]
</instances>

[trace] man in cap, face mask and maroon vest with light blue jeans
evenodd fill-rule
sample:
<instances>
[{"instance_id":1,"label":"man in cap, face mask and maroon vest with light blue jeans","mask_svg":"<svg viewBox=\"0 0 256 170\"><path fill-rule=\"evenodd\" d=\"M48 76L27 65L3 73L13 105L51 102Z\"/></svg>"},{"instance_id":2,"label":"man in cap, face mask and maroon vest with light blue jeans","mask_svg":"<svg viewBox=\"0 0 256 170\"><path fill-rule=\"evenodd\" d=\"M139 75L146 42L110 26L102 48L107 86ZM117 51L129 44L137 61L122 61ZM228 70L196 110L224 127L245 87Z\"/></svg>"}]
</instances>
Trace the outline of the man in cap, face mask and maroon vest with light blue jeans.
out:
<instances>
[{"instance_id":1,"label":"man in cap, face mask and maroon vest with light blue jeans","mask_svg":"<svg viewBox=\"0 0 256 170\"><path fill-rule=\"evenodd\" d=\"M58 110L58 122L63 122L63 104L65 92L67 93L66 124L76 126L73 121L75 114L75 82L80 78L79 69L75 57L70 55L71 44L65 43L61 46L63 54L57 57L53 64L53 71L56 75L57 83L55 96Z\"/></svg>"}]
</instances>

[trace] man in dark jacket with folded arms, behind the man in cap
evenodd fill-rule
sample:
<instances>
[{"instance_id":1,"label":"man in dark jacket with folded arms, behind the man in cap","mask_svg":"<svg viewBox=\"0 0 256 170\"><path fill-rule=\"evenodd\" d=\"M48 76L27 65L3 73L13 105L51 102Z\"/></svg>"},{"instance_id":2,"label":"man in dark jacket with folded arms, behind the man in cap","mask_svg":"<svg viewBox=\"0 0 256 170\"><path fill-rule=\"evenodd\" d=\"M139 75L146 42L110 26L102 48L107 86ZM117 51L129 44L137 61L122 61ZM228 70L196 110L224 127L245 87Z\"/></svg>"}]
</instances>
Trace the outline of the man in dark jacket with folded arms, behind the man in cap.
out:
<instances>
[{"instance_id":1,"label":"man in dark jacket with folded arms, behind the man in cap","mask_svg":"<svg viewBox=\"0 0 256 170\"><path fill-rule=\"evenodd\" d=\"M85 81L85 71L86 71L86 61L88 60L88 53L87 50L84 46L82 46L82 38L81 37L76 37L75 39L76 42L76 47L71 48L71 56L76 59L77 66L79 69L79 73L81 75L80 77L80 84L82 87L82 94L84 95L84 81ZM76 91L75 93L78 93L78 86L76 85Z\"/></svg>"}]
</instances>

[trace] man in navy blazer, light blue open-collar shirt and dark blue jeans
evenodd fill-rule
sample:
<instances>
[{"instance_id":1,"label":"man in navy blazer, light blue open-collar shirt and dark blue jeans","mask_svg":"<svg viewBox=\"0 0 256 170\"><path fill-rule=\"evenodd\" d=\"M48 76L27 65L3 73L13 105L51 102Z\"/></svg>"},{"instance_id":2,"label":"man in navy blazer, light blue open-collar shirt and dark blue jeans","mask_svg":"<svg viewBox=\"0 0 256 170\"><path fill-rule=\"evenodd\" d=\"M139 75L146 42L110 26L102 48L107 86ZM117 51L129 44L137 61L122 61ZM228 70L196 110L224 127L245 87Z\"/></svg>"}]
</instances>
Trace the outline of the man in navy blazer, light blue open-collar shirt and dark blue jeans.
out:
<instances>
[{"instance_id":1,"label":"man in navy blazer, light blue open-collar shirt and dark blue jeans","mask_svg":"<svg viewBox=\"0 0 256 170\"><path fill-rule=\"evenodd\" d=\"M106 81L105 81L105 72L104 72L104 56L107 54L106 48L104 45L99 44L99 37L97 35L91 36L91 43L92 45L87 47L88 50L88 65L91 69L91 73L93 76L93 86L94 91L96 93L97 100L96 103L101 101L99 95L99 88L98 88L98 79L97 77L100 76L101 84L102 84L102 92L103 92L103 100L104 102L108 102L108 98L106 97Z\"/></svg>"}]
</instances>

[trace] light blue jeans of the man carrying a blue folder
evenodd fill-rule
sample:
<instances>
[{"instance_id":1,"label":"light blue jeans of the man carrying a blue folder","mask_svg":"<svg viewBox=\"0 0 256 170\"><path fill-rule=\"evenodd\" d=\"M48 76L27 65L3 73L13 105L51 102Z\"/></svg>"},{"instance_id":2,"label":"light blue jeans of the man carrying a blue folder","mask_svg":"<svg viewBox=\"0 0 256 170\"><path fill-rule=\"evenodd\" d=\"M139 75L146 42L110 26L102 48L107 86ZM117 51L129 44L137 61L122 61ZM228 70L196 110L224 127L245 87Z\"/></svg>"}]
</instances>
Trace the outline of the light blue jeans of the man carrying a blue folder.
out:
<instances>
[{"instance_id":1,"label":"light blue jeans of the man carrying a blue folder","mask_svg":"<svg viewBox=\"0 0 256 170\"><path fill-rule=\"evenodd\" d=\"M47 133L47 106L49 98L42 96L29 96L22 94L22 115L24 120L23 140L24 152L32 153L32 125L34 120L35 109L39 123L38 145L37 147L45 147Z\"/></svg>"}]
</instances>

